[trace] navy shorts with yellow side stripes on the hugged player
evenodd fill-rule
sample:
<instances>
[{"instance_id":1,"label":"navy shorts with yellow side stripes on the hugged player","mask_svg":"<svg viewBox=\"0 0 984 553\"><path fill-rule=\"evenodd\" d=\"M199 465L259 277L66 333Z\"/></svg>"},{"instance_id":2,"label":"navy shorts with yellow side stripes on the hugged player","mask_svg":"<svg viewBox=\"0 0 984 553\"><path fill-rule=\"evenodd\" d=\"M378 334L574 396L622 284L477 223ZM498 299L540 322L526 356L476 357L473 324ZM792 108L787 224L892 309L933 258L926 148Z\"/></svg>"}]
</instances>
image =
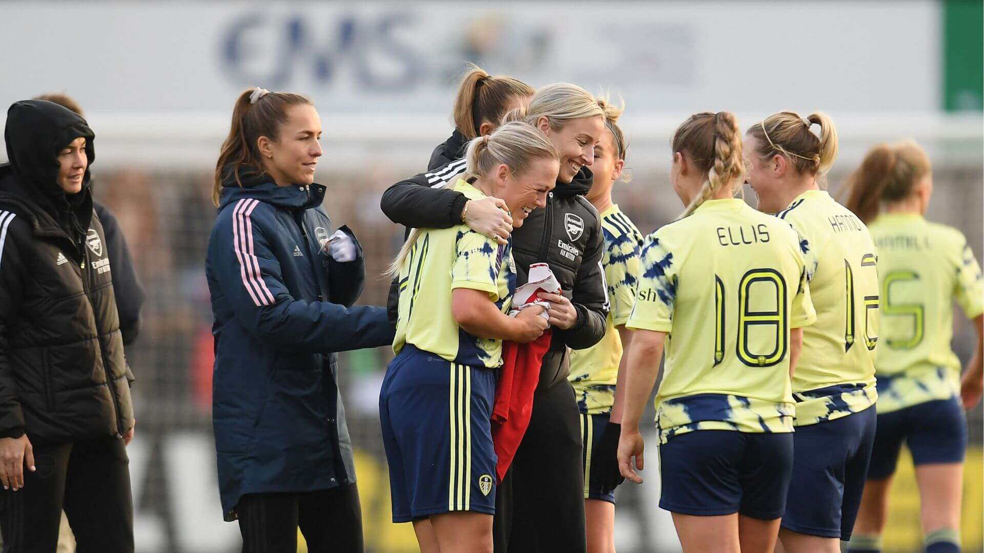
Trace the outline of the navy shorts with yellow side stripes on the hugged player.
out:
<instances>
[{"instance_id":1,"label":"navy shorts with yellow side stripes on the hugged player","mask_svg":"<svg viewBox=\"0 0 984 553\"><path fill-rule=\"evenodd\" d=\"M458 511L495 513L495 371L407 344L379 395L393 522Z\"/></svg>"}]
</instances>

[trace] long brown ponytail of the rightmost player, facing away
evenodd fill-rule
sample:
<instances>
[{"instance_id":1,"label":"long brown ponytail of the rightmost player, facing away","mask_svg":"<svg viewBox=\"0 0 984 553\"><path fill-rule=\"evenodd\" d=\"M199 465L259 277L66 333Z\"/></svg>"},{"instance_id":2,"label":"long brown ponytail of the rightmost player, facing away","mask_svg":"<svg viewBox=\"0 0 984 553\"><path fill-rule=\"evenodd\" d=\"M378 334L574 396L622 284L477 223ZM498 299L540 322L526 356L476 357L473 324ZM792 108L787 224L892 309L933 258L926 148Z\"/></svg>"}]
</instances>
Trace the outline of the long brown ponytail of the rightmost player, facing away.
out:
<instances>
[{"instance_id":1,"label":"long brown ponytail of the rightmost player, facing away","mask_svg":"<svg viewBox=\"0 0 984 553\"><path fill-rule=\"evenodd\" d=\"M930 170L929 157L915 142L875 146L847 178L844 206L869 222L878 215L883 201L904 200Z\"/></svg>"}]
</instances>

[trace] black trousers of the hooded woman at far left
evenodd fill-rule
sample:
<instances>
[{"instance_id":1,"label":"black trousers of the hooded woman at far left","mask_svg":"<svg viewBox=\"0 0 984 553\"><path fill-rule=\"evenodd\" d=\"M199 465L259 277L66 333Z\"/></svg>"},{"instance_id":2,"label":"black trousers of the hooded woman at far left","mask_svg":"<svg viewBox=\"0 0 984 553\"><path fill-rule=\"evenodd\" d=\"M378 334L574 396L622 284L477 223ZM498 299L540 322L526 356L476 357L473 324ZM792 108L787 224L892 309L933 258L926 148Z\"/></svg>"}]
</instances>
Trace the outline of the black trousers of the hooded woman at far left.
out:
<instances>
[{"instance_id":1,"label":"black trousers of the hooded woman at far left","mask_svg":"<svg viewBox=\"0 0 984 553\"><path fill-rule=\"evenodd\" d=\"M0 490L4 553L53 553L61 512L78 553L133 553L130 459L122 439L34 446L24 488Z\"/></svg>"}]
</instances>

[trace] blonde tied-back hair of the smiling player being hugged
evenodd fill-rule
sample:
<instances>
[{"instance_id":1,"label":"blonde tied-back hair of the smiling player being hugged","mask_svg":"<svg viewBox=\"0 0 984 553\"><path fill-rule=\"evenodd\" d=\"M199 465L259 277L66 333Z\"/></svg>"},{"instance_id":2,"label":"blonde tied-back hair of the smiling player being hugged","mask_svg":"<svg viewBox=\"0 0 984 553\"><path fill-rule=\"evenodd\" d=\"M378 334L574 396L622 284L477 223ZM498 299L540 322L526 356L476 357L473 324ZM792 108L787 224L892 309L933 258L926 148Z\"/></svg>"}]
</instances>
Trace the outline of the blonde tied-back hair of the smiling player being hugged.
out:
<instances>
[{"instance_id":1,"label":"blonde tied-back hair of the smiling player being hugged","mask_svg":"<svg viewBox=\"0 0 984 553\"><path fill-rule=\"evenodd\" d=\"M506 123L491 134L472 139L468 143L464 157L466 163L466 179L476 179L487 176L499 165L505 164L513 175L523 175L535 159L557 159L559 154L553 144L535 129L521 121ZM450 186L451 183L439 183L438 187ZM400 275L400 269L410 249L424 229L414 228L406 241L400 247L400 253L390 264L386 275Z\"/></svg>"}]
</instances>

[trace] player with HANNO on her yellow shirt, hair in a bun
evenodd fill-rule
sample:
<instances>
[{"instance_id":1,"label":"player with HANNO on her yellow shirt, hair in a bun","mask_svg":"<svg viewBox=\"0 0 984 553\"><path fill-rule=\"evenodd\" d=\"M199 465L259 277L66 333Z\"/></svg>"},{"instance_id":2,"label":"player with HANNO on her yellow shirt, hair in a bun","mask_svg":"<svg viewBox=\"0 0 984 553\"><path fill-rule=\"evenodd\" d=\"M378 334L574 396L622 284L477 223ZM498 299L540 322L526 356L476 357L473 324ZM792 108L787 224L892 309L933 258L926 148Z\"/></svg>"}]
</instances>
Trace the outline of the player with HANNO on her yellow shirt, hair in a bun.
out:
<instances>
[{"instance_id":1,"label":"player with HANNO on her yellow shirt, hair in a bun","mask_svg":"<svg viewBox=\"0 0 984 553\"><path fill-rule=\"evenodd\" d=\"M861 219L820 189L836 153L823 113L775 113L746 134L759 209L809 242L817 308L793 375L795 461L779 533L787 553L834 553L850 537L875 439L878 252Z\"/></svg>"}]
</instances>

